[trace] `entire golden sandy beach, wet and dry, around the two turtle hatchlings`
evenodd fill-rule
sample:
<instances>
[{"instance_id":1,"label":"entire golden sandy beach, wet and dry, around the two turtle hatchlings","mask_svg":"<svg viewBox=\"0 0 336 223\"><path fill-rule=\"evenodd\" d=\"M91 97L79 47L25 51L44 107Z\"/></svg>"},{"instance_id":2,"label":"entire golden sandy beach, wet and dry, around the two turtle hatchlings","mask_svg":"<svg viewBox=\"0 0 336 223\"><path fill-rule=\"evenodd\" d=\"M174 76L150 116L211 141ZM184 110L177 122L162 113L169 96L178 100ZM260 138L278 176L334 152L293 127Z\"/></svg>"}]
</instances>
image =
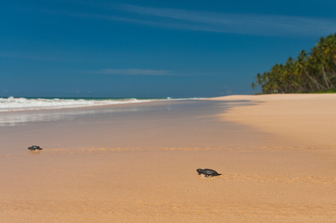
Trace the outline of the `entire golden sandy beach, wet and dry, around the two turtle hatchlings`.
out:
<instances>
[{"instance_id":1,"label":"entire golden sandy beach, wet and dry, around the two turtle hatchlings","mask_svg":"<svg viewBox=\"0 0 336 223\"><path fill-rule=\"evenodd\" d=\"M335 222L335 111L279 94L2 112L0 219Z\"/></svg>"}]
</instances>

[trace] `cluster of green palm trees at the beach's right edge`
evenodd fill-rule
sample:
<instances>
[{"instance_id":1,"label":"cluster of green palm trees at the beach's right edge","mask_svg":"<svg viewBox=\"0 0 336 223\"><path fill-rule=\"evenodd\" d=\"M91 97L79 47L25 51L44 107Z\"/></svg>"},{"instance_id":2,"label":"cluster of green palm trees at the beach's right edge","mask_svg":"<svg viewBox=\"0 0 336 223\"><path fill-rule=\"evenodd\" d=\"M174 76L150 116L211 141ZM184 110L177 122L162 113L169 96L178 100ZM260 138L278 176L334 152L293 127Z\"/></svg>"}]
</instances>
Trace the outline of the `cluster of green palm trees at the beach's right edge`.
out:
<instances>
[{"instance_id":1,"label":"cluster of green palm trees at the beach's right edge","mask_svg":"<svg viewBox=\"0 0 336 223\"><path fill-rule=\"evenodd\" d=\"M336 91L336 33L321 37L310 49L301 50L285 64L275 64L268 72L257 73L255 83L261 86L263 94L314 93Z\"/></svg>"}]
</instances>

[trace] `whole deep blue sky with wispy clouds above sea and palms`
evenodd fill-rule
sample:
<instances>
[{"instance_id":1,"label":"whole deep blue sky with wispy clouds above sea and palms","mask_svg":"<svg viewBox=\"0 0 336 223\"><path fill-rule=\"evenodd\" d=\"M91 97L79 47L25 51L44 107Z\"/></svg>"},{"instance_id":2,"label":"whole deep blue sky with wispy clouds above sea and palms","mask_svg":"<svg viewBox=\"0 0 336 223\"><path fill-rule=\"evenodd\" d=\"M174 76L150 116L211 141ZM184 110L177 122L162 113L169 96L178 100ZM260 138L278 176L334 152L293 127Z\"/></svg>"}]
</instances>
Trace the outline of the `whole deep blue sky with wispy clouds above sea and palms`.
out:
<instances>
[{"instance_id":1,"label":"whole deep blue sky with wispy clouds above sea and palms","mask_svg":"<svg viewBox=\"0 0 336 223\"><path fill-rule=\"evenodd\" d=\"M336 32L336 1L1 1L0 96L255 93Z\"/></svg>"}]
</instances>

